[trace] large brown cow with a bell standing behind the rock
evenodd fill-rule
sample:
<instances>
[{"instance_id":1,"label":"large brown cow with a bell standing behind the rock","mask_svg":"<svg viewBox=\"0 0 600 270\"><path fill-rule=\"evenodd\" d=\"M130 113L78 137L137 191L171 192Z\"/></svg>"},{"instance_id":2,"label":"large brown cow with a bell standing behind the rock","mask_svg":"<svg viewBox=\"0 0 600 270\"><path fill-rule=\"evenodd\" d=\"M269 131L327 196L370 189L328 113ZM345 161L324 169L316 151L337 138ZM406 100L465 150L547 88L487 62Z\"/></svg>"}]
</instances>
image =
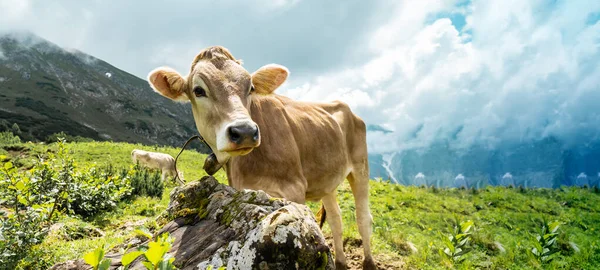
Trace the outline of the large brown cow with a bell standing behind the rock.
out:
<instances>
[{"instance_id":1,"label":"large brown cow with a bell standing behind the rock","mask_svg":"<svg viewBox=\"0 0 600 270\"><path fill-rule=\"evenodd\" d=\"M346 268L346 258L336 189L348 179L363 268L376 269L365 124L342 102L299 102L272 93L287 77L288 70L275 64L250 74L227 49L215 46L196 56L187 78L161 67L148 81L159 94L191 103L196 127L223 164L229 185L297 203L322 200L338 269Z\"/></svg>"}]
</instances>

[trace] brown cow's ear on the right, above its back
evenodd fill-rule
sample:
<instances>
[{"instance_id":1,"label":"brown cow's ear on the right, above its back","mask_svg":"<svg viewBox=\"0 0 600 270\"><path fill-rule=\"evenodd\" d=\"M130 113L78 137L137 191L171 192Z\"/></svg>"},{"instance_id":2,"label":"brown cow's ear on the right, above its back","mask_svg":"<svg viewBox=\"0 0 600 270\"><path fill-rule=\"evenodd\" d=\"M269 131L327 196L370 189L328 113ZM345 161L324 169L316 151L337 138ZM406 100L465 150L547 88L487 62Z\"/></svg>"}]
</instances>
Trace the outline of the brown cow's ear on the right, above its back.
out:
<instances>
[{"instance_id":1,"label":"brown cow's ear on the right, above its back","mask_svg":"<svg viewBox=\"0 0 600 270\"><path fill-rule=\"evenodd\" d=\"M271 94L289 76L289 70L281 65L268 64L252 73L252 84L258 94Z\"/></svg>"}]
</instances>

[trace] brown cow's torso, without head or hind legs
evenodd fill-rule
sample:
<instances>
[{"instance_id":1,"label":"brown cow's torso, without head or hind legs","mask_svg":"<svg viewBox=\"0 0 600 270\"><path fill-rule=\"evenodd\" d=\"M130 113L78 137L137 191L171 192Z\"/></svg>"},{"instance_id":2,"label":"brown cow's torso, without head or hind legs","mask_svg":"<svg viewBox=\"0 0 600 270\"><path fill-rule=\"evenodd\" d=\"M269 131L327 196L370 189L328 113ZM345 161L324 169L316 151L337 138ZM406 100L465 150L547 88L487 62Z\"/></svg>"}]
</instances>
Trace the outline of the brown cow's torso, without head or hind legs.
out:
<instances>
[{"instance_id":1,"label":"brown cow's torso, without head or hind legs","mask_svg":"<svg viewBox=\"0 0 600 270\"><path fill-rule=\"evenodd\" d=\"M347 105L298 102L279 95L254 97L252 104L261 145L231 160L227 171L232 186L263 189L292 200L318 200L348 175L354 152L349 132L356 118Z\"/></svg>"}]
</instances>

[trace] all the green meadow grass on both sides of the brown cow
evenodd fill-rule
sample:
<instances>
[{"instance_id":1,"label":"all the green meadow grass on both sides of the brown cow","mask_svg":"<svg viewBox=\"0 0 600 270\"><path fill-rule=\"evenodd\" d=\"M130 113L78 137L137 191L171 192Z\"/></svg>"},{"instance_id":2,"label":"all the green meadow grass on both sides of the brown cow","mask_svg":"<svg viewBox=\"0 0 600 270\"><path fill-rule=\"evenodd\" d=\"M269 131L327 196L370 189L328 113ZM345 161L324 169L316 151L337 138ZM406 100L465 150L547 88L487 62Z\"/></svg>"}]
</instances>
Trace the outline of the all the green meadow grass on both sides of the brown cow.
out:
<instances>
[{"instance_id":1,"label":"all the green meadow grass on both sides of the brown cow","mask_svg":"<svg viewBox=\"0 0 600 270\"><path fill-rule=\"evenodd\" d=\"M21 147L21 148L19 148ZM53 145L20 144L4 148L15 164L26 167L28 159L52 151ZM80 165L112 164L129 166L134 148L160 151L173 155L179 149L127 143L90 142L69 143L67 149ZM20 150L19 150L20 149ZM205 155L185 151L178 167L186 181L204 176ZM226 183L222 171L216 178ZM91 220L64 217L63 223L82 223L102 230L103 237L67 241L51 234L39 249L51 262L80 258L98 245L114 246L133 236L131 226L156 226L153 220L169 202L174 184L167 185L163 197L136 198L119 205L115 211ZM403 261L411 269L597 269L600 268L600 192L597 189L563 187L561 189L518 189L486 187L480 190L455 188L422 188L371 181L370 202L373 226L373 252L380 261ZM338 199L343 213L344 238L348 246L360 239L355 222L354 199L347 182L339 188ZM319 203L309 203L316 213ZM444 248L443 236L452 232L454 216L474 222L471 247L465 261L452 265L438 250ZM558 247L561 252L548 265L540 265L528 250L534 247L531 235L539 231L540 222L560 221ZM84 226L84 227L85 227ZM135 226L133 226L135 227ZM124 228L130 228L125 230ZM330 229L324 226L325 234ZM417 248L411 252L410 245ZM577 246L576 251L573 246ZM362 254L360 254L362 257Z\"/></svg>"}]
</instances>

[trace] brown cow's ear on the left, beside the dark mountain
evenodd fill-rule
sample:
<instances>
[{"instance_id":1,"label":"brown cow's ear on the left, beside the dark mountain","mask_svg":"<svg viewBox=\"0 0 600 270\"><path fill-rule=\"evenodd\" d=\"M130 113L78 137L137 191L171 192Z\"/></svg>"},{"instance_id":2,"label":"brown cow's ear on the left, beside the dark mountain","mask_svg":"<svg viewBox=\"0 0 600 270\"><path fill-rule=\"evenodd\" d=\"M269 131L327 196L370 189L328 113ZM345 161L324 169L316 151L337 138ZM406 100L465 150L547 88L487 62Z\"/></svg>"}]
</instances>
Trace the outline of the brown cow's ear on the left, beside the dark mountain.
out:
<instances>
[{"instance_id":1,"label":"brown cow's ear on the left, beside the dark mountain","mask_svg":"<svg viewBox=\"0 0 600 270\"><path fill-rule=\"evenodd\" d=\"M148 74L152 89L175 101L189 101L185 94L185 79L172 68L159 67Z\"/></svg>"}]
</instances>

